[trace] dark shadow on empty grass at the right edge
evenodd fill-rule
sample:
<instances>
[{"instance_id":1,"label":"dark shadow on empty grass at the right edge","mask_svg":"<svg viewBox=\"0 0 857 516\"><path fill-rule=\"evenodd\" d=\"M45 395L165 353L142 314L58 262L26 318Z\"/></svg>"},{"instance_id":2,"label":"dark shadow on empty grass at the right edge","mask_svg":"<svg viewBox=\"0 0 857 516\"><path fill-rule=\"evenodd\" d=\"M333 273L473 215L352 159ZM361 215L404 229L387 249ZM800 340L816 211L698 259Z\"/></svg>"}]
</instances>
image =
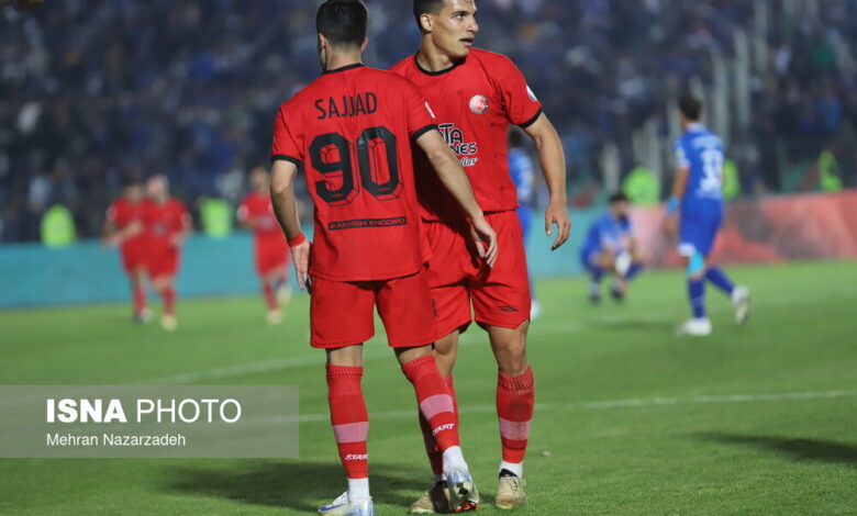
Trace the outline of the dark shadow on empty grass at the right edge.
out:
<instances>
[{"instance_id":1,"label":"dark shadow on empty grass at the right edge","mask_svg":"<svg viewBox=\"0 0 857 516\"><path fill-rule=\"evenodd\" d=\"M748 445L777 451L795 461L845 463L857 468L857 445L820 439L790 439L776 436L742 436L737 434L699 434L699 438L733 445Z\"/></svg>"}]
</instances>

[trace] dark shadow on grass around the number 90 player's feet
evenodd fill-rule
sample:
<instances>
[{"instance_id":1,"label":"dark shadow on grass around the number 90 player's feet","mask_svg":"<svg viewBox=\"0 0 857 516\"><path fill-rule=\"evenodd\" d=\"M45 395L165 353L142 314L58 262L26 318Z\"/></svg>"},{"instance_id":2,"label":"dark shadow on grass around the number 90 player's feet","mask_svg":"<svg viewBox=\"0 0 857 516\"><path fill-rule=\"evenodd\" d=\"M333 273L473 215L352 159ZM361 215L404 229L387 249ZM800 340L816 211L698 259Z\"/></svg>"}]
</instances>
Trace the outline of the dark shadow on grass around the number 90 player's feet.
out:
<instances>
[{"instance_id":1,"label":"dark shadow on grass around the number 90 player's feet","mask_svg":"<svg viewBox=\"0 0 857 516\"><path fill-rule=\"evenodd\" d=\"M168 471L165 489L251 505L314 513L346 489L345 472L336 463L255 462L242 468L181 467ZM425 489L425 471L401 464L370 464L372 497L404 511ZM423 482L421 482L423 481Z\"/></svg>"}]
</instances>

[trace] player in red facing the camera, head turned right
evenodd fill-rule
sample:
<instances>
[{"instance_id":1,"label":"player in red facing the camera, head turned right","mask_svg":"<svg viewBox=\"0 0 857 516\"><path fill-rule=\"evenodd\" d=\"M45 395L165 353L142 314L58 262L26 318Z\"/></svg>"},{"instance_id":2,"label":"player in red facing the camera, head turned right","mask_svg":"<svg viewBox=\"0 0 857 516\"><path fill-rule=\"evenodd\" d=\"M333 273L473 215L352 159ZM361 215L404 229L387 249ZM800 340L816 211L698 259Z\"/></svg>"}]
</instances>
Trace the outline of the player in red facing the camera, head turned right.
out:
<instances>
[{"instance_id":1,"label":"player in red facing the camera, head turned right","mask_svg":"<svg viewBox=\"0 0 857 516\"><path fill-rule=\"evenodd\" d=\"M447 144L464 165L476 198L498 234L502 249L493 268L470 260L465 217L416 156L416 178L426 221L431 260L429 278L437 305L438 326L445 337L435 343L441 372L453 389L453 366L459 334L474 319L488 332L499 367L497 412L502 442L497 505L511 508L526 503L523 461L534 404L533 373L526 359L531 296L521 225L515 216L515 186L509 175L509 124L532 137L550 191L545 231L557 226L553 249L569 236L566 209L566 166L556 130L523 74L508 57L474 48L479 30L475 0L414 0L414 15L422 34L419 52L391 68L410 79L434 110ZM436 479L441 457L423 423L426 450ZM432 513L445 507L443 484L427 492L412 507ZM434 496L433 496L434 495Z\"/></svg>"}]
</instances>

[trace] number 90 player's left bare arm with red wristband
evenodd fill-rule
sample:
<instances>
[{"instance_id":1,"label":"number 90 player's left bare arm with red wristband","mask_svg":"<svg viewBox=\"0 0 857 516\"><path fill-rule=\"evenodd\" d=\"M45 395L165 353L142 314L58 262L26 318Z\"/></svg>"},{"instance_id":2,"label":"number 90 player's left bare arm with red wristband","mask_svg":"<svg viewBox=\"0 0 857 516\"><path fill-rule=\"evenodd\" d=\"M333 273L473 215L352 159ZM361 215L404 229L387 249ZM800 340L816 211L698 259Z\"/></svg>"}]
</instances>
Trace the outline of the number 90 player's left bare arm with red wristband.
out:
<instances>
[{"instance_id":1,"label":"number 90 player's left bare arm with red wristband","mask_svg":"<svg viewBox=\"0 0 857 516\"><path fill-rule=\"evenodd\" d=\"M298 216L298 202L294 199L294 177L298 167L291 161L274 161L271 167L270 199L274 204L274 214L280 223L286 238L291 248L291 258L294 263L294 272L298 276L298 285L305 290L309 285L310 270L310 242L301 240L301 222Z\"/></svg>"}]
</instances>

